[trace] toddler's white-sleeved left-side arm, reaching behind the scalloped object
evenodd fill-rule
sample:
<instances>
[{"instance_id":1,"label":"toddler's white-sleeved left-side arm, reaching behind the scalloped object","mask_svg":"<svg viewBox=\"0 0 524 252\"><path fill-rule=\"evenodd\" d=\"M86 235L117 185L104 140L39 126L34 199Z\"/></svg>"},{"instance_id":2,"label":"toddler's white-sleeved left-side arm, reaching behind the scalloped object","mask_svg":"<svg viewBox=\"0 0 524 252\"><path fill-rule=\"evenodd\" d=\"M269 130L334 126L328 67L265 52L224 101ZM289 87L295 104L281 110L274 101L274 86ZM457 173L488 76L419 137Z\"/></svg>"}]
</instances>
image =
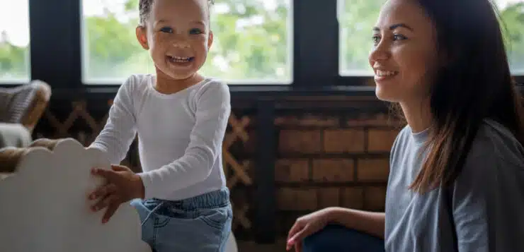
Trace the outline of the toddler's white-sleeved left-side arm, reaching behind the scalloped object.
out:
<instances>
[{"instance_id":1,"label":"toddler's white-sleeved left-side arm, reaching behind the scalloped object","mask_svg":"<svg viewBox=\"0 0 524 252\"><path fill-rule=\"evenodd\" d=\"M106 126L90 146L106 152L111 164L122 162L137 132L131 99L134 81L132 76L120 86L109 109Z\"/></svg>"}]
</instances>

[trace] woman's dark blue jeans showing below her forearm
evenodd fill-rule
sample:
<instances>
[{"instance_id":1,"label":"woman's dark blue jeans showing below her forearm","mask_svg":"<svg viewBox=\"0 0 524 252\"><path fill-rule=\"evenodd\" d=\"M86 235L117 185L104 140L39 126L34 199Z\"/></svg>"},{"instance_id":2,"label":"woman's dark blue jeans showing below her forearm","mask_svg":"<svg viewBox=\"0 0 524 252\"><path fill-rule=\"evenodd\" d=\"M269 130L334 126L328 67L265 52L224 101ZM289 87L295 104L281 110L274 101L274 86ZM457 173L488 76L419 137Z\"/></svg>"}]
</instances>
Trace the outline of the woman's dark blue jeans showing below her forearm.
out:
<instances>
[{"instance_id":1,"label":"woman's dark blue jeans showing below her forearm","mask_svg":"<svg viewBox=\"0 0 524 252\"><path fill-rule=\"evenodd\" d=\"M384 252L384 240L338 225L304 239L303 252Z\"/></svg>"}]
</instances>

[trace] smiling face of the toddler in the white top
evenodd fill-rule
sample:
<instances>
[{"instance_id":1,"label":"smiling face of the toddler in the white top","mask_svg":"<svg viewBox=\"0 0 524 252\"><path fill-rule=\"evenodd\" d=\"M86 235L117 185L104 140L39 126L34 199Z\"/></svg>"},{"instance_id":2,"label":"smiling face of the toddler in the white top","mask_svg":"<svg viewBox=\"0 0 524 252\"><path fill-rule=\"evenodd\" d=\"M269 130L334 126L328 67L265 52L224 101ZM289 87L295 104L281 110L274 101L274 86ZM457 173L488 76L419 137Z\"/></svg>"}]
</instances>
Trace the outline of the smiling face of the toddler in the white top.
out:
<instances>
[{"instance_id":1,"label":"smiling face of the toddler in the white top","mask_svg":"<svg viewBox=\"0 0 524 252\"><path fill-rule=\"evenodd\" d=\"M155 0L137 38L149 49L157 73L191 78L203 66L212 44L207 0Z\"/></svg>"}]
</instances>

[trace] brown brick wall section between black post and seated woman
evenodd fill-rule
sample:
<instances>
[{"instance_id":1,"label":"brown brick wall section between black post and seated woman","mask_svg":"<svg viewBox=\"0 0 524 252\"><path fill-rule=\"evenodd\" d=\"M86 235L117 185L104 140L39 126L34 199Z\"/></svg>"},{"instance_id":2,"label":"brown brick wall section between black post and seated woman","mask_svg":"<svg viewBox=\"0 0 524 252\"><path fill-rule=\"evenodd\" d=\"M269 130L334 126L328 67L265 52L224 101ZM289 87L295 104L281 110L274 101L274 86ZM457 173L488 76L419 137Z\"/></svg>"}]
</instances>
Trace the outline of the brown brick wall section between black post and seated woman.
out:
<instances>
[{"instance_id":1,"label":"brown brick wall section between black post and seated woman","mask_svg":"<svg viewBox=\"0 0 524 252\"><path fill-rule=\"evenodd\" d=\"M389 150L401 129L384 112L279 116L278 232L304 213L343 206L383 211Z\"/></svg>"}]
</instances>

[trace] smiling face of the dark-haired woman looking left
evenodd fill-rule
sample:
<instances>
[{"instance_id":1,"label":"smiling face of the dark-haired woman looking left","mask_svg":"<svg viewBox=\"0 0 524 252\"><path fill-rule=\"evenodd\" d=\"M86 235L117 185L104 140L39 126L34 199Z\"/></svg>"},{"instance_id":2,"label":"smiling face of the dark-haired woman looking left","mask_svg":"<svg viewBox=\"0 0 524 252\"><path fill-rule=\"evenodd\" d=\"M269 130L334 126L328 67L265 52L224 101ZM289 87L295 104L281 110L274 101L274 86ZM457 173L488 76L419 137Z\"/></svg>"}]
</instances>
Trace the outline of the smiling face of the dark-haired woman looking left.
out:
<instances>
[{"instance_id":1,"label":"smiling face of the dark-haired woman looking left","mask_svg":"<svg viewBox=\"0 0 524 252\"><path fill-rule=\"evenodd\" d=\"M388 102L415 102L428 97L437 66L436 32L415 0L389 0L375 28L370 66L376 95Z\"/></svg>"}]
</instances>

